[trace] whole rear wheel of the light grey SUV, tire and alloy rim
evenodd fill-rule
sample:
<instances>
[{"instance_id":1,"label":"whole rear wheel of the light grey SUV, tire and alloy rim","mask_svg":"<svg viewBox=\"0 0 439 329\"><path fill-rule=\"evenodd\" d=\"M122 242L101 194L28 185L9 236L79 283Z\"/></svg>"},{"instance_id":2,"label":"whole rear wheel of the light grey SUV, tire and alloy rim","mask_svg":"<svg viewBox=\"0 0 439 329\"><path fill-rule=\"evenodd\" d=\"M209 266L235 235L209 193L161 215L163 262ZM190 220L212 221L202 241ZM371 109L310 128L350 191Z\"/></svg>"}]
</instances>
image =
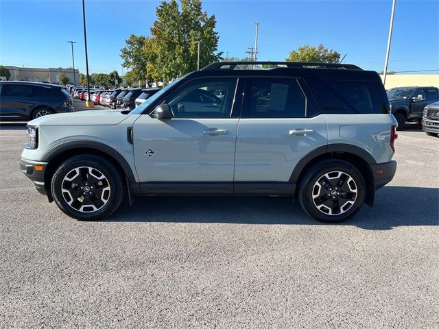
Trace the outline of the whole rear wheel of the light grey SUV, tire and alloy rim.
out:
<instances>
[{"instance_id":1,"label":"whole rear wheel of the light grey SUV, tire and alloy rim","mask_svg":"<svg viewBox=\"0 0 439 329\"><path fill-rule=\"evenodd\" d=\"M325 223L340 223L353 217L363 205L365 196L363 175L342 160L324 160L311 167L301 180L298 191L303 210Z\"/></svg>"}]
</instances>

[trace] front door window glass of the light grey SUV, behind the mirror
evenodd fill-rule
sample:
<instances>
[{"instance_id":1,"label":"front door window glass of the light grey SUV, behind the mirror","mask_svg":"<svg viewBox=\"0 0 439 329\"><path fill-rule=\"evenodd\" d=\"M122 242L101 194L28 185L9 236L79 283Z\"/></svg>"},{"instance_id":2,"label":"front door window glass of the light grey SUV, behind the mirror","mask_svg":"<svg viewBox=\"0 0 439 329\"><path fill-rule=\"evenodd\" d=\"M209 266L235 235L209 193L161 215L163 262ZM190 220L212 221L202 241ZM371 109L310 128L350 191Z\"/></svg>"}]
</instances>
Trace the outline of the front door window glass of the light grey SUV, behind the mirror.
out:
<instances>
[{"instance_id":1,"label":"front door window glass of the light grey SUV, behind the mirror","mask_svg":"<svg viewBox=\"0 0 439 329\"><path fill-rule=\"evenodd\" d=\"M167 103L176 118L227 118L236 83L236 78L194 80L167 97Z\"/></svg>"}]
</instances>

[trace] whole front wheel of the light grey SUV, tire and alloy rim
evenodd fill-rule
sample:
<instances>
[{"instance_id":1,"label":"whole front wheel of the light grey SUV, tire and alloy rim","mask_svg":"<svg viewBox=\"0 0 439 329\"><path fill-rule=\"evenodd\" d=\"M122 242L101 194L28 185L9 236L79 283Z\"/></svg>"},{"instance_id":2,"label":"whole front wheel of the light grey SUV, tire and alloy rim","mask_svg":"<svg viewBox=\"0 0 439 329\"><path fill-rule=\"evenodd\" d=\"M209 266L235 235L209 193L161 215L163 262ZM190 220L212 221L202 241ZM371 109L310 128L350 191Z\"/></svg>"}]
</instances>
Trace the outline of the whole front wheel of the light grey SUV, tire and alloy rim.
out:
<instances>
[{"instance_id":1,"label":"whole front wheel of the light grey SUV, tire and alloy rim","mask_svg":"<svg viewBox=\"0 0 439 329\"><path fill-rule=\"evenodd\" d=\"M103 219L123 199L121 174L99 156L83 154L62 162L51 181L56 205L79 220Z\"/></svg>"}]
</instances>

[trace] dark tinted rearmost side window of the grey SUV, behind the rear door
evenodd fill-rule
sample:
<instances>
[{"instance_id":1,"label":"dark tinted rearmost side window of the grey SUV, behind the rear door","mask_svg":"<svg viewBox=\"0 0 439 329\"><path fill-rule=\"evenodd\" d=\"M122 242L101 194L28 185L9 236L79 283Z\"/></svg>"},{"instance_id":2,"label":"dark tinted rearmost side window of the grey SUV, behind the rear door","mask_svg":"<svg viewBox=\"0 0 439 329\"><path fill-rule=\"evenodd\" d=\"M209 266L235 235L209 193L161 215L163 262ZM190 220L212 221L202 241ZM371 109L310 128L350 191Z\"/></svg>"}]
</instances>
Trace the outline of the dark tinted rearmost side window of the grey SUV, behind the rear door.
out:
<instances>
[{"instance_id":1,"label":"dark tinted rearmost side window of the grey SUV, behind the rear door","mask_svg":"<svg viewBox=\"0 0 439 329\"><path fill-rule=\"evenodd\" d=\"M320 111L327 114L383 114L387 106L379 98L375 82L322 81L307 78Z\"/></svg>"}]
</instances>

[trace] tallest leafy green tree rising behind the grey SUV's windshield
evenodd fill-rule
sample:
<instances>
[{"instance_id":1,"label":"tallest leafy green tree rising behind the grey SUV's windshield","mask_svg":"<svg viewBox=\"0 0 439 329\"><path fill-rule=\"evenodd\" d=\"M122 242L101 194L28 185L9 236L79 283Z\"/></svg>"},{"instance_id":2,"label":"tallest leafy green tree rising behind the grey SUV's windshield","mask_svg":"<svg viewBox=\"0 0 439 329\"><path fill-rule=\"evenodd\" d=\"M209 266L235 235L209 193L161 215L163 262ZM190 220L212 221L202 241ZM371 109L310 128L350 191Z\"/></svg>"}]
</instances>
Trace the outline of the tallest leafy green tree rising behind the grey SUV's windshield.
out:
<instances>
[{"instance_id":1,"label":"tallest leafy green tree rising behind the grey SUV's windshield","mask_svg":"<svg viewBox=\"0 0 439 329\"><path fill-rule=\"evenodd\" d=\"M169 82L197 69L198 41L200 67L221 59L217 52L215 15L202 11L200 0L163 1L156 10L151 28L152 48L147 53L148 67L156 80Z\"/></svg>"}]
</instances>

